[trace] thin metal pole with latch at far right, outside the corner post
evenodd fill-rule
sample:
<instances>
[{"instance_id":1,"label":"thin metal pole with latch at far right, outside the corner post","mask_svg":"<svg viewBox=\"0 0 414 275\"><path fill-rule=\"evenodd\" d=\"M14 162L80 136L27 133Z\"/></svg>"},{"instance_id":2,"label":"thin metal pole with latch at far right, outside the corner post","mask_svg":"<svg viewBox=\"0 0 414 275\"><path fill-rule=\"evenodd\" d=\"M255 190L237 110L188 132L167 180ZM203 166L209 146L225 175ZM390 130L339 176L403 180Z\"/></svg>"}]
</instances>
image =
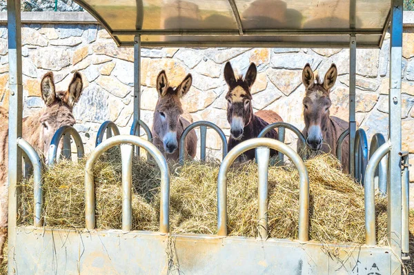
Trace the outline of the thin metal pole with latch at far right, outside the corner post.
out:
<instances>
[{"instance_id":1,"label":"thin metal pole with latch at far right, outside the corner post","mask_svg":"<svg viewBox=\"0 0 414 275\"><path fill-rule=\"evenodd\" d=\"M409 258L410 253L410 231L409 218L410 218L410 174L408 172L408 152L402 152L402 256L403 258Z\"/></svg>"}]
</instances>

